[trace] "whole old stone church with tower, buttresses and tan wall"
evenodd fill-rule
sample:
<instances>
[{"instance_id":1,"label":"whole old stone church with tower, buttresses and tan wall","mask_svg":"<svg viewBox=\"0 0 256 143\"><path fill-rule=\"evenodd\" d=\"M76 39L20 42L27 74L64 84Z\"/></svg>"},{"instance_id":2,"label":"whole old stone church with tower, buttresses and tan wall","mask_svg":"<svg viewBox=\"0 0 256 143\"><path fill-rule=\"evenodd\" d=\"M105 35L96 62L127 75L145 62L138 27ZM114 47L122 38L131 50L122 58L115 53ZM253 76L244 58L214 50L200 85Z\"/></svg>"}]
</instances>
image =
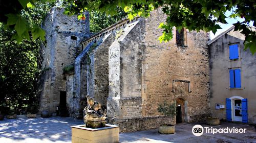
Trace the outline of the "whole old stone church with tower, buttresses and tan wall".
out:
<instances>
[{"instance_id":1,"label":"whole old stone church with tower, buttresses and tan wall","mask_svg":"<svg viewBox=\"0 0 256 143\"><path fill-rule=\"evenodd\" d=\"M148 18L123 19L95 34L86 20L53 8L42 28L39 112L83 117L87 94L107 111L107 122L121 132L176 123L157 110L176 101L178 122L197 122L210 114L208 33L174 28L174 38L159 43L157 9Z\"/></svg>"}]
</instances>

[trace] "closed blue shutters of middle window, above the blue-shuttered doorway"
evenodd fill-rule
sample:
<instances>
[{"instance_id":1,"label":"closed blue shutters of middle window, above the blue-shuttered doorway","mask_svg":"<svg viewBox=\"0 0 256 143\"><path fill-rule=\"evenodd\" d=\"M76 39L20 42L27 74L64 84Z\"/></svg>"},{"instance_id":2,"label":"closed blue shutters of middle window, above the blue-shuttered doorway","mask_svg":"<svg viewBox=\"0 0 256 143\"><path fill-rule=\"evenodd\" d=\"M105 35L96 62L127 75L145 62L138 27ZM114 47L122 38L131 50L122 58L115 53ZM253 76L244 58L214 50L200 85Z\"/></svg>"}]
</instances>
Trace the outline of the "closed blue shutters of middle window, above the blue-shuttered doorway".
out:
<instances>
[{"instance_id":1,"label":"closed blue shutters of middle window, above the blue-shuttered doorway","mask_svg":"<svg viewBox=\"0 0 256 143\"><path fill-rule=\"evenodd\" d=\"M229 69L230 88L241 88L241 69Z\"/></svg>"}]
</instances>

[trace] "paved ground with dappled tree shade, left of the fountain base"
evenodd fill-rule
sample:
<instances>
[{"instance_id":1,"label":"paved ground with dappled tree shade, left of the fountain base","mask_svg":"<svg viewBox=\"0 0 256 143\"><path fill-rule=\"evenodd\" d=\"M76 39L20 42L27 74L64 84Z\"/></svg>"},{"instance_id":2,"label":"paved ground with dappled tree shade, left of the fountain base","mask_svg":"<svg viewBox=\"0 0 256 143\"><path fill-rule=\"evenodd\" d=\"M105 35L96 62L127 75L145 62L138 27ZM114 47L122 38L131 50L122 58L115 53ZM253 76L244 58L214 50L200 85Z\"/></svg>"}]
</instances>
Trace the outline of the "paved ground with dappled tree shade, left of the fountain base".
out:
<instances>
[{"instance_id":1,"label":"paved ground with dappled tree shade, left of the fountain base","mask_svg":"<svg viewBox=\"0 0 256 143\"><path fill-rule=\"evenodd\" d=\"M69 117L19 118L0 121L1 142L40 139L45 141L71 141L70 126L83 124ZM4 141L5 142L5 141Z\"/></svg>"}]
</instances>

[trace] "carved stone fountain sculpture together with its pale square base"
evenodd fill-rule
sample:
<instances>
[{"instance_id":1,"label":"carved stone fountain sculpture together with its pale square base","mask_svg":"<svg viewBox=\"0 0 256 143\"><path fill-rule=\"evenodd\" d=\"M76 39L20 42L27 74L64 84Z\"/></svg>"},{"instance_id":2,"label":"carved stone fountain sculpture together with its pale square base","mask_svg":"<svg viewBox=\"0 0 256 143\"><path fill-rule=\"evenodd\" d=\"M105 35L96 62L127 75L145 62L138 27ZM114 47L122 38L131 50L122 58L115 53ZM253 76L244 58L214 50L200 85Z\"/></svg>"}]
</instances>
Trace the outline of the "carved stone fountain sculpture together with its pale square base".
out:
<instances>
[{"instance_id":1,"label":"carved stone fountain sculpture together with its pale square base","mask_svg":"<svg viewBox=\"0 0 256 143\"><path fill-rule=\"evenodd\" d=\"M102 110L100 103L89 95L84 114L85 125L71 126L72 143L119 142L119 126L106 124L106 110Z\"/></svg>"}]
</instances>

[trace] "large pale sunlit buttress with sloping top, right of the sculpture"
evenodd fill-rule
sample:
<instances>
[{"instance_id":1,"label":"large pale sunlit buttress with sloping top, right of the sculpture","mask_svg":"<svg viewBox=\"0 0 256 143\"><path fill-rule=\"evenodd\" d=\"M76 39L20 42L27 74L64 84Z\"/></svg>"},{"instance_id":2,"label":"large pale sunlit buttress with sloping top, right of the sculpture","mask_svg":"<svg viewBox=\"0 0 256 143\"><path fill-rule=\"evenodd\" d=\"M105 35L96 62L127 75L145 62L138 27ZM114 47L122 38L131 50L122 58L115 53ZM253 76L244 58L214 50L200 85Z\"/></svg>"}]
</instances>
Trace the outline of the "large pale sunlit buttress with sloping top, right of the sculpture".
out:
<instances>
[{"instance_id":1,"label":"large pale sunlit buttress with sloping top, right of the sculpture","mask_svg":"<svg viewBox=\"0 0 256 143\"><path fill-rule=\"evenodd\" d=\"M127 24L116 33L109 47L108 122L121 122L141 118L141 29L143 19Z\"/></svg>"}]
</instances>

